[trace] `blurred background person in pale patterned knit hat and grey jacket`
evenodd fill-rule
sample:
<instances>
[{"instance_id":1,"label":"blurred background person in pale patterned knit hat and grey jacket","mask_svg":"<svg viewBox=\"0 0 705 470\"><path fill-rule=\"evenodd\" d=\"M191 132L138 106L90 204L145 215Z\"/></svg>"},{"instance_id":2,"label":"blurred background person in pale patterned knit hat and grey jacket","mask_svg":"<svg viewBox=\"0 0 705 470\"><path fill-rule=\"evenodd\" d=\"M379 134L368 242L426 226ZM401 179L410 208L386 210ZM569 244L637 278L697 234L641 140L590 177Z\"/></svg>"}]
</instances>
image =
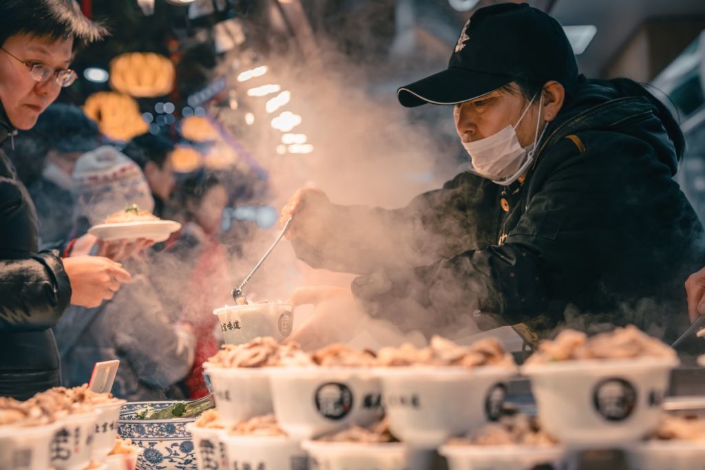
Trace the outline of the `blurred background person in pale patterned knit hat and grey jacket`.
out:
<instances>
[{"instance_id":1,"label":"blurred background person in pale patterned knit hat and grey jacket","mask_svg":"<svg viewBox=\"0 0 705 470\"><path fill-rule=\"evenodd\" d=\"M79 236L125 206L137 204L146 211L154 206L145 175L114 147L99 147L81 156L73 181ZM120 359L114 395L130 401L178 398L173 385L191 369L195 339L188 326L173 323L164 311L141 256L148 245L135 245L138 251L124 261L132 282L99 307L70 307L54 327L63 385L87 383L95 361ZM96 244L91 252L100 249Z\"/></svg>"}]
</instances>

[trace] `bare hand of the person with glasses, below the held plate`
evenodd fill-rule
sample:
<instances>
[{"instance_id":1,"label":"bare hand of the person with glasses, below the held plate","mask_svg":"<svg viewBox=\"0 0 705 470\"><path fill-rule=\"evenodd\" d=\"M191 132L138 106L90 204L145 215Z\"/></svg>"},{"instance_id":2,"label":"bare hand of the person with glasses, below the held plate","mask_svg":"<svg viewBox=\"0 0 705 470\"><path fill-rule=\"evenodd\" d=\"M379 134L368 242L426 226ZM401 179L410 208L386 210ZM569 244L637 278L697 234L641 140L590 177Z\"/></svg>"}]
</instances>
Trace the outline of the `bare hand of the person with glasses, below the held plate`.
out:
<instances>
[{"instance_id":1,"label":"bare hand of the person with glasses, below the held plate","mask_svg":"<svg viewBox=\"0 0 705 470\"><path fill-rule=\"evenodd\" d=\"M121 264L102 256L64 258L63 268L71 282L71 304L81 307L98 307L132 278Z\"/></svg>"}]
</instances>

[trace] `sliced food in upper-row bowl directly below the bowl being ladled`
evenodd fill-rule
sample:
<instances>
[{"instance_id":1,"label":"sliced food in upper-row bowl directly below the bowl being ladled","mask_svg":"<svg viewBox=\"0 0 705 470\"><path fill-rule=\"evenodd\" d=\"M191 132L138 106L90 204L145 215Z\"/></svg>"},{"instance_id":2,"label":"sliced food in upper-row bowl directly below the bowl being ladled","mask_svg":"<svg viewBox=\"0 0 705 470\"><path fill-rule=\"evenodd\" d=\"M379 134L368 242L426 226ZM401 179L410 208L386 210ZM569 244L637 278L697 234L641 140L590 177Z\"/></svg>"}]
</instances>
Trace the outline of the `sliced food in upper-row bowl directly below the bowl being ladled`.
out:
<instances>
[{"instance_id":1,"label":"sliced food in upper-row bowl directly below the bowl being ladled","mask_svg":"<svg viewBox=\"0 0 705 470\"><path fill-rule=\"evenodd\" d=\"M280 345L274 338L255 338L243 345L223 345L221 350L208 359L214 367L235 369L240 367L310 366L313 365L295 342Z\"/></svg>"}]
</instances>

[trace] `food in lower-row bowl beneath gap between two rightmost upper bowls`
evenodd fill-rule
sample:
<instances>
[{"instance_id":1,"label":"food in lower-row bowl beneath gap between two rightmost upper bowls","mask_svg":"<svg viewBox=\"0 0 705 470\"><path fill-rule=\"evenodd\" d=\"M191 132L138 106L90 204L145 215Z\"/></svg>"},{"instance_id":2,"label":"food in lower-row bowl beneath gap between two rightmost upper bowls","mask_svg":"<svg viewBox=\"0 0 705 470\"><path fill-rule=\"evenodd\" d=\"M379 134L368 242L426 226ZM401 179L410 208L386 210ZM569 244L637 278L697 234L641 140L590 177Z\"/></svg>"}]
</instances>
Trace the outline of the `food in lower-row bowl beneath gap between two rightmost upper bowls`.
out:
<instances>
[{"instance_id":1,"label":"food in lower-row bowl beneath gap between two rightmost upper bowls","mask_svg":"<svg viewBox=\"0 0 705 470\"><path fill-rule=\"evenodd\" d=\"M536 418L525 414L503 416L462 438L448 440L448 445L556 445L557 441L542 431Z\"/></svg>"}]
</instances>

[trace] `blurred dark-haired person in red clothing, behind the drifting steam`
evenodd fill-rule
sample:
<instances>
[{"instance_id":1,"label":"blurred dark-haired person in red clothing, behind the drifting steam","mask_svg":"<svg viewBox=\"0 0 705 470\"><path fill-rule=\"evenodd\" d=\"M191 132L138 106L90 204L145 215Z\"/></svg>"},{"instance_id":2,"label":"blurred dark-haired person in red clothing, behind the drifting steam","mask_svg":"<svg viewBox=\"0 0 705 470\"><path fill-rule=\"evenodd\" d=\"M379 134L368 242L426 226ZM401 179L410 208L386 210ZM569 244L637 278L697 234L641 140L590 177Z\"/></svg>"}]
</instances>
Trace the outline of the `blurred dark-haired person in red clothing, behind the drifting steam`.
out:
<instances>
[{"instance_id":1,"label":"blurred dark-haired person in red clothing, behind the drifting steam","mask_svg":"<svg viewBox=\"0 0 705 470\"><path fill-rule=\"evenodd\" d=\"M197 339L195 361L185 388L190 398L200 398L209 393L202 363L219 350L223 339L213 310L232 300L228 252L220 240L228 192L218 175L201 170L183 181L178 199L185 224L176 241L161 252L166 257L162 262L171 263L170 268L164 269L178 276L154 281L161 297L167 297L165 304L193 328Z\"/></svg>"}]
</instances>

